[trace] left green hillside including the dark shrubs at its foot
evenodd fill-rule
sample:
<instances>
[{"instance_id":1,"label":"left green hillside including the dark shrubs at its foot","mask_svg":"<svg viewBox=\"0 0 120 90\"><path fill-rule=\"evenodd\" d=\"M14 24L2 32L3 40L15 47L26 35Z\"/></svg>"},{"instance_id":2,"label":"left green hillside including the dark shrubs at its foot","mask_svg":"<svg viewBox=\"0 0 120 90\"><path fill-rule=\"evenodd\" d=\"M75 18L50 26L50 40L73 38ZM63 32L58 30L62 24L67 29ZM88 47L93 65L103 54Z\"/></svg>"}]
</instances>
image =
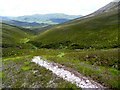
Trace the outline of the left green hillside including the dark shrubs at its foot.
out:
<instances>
[{"instance_id":1,"label":"left green hillside including the dark shrubs at its foot","mask_svg":"<svg viewBox=\"0 0 120 90\"><path fill-rule=\"evenodd\" d=\"M31 47L30 44L26 44L33 36L32 32L28 29L21 27L2 24L2 47L3 48L26 48Z\"/></svg>"}]
</instances>

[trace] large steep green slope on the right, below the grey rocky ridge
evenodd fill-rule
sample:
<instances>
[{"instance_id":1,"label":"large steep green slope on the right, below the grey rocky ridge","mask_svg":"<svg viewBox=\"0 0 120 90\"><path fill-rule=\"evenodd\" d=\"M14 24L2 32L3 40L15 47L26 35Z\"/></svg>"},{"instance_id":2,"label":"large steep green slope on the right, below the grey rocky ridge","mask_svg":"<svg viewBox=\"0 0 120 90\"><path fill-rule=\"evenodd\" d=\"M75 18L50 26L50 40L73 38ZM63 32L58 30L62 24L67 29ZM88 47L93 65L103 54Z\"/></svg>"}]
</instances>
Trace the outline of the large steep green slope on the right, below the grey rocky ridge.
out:
<instances>
[{"instance_id":1,"label":"large steep green slope on the right, below the grey rocky ridge","mask_svg":"<svg viewBox=\"0 0 120 90\"><path fill-rule=\"evenodd\" d=\"M69 42L69 46L75 48L118 47L118 12L114 10L55 26L34 41L54 46Z\"/></svg>"}]
</instances>

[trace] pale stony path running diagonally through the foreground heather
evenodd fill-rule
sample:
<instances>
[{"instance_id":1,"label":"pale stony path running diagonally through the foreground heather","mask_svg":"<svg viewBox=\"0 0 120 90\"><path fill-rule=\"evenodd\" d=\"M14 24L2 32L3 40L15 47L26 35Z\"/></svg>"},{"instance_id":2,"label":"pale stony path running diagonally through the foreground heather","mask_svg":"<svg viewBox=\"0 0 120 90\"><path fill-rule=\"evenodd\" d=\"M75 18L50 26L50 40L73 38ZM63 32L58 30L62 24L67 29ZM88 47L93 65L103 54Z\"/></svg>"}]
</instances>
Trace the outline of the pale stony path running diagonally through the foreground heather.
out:
<instances>
[{"instance_id":1,"label":"pale stony path running diagonally through the foreground heather","mask_svg":"<svg viewBox=\"0 0 120 90\"><path fill-rule=\"evenodd\" d=\"M98 89L103 90L105 88L99 83L91 79L88 79L87 77L81 75L80 73L78 73L77 71L71 68L67 68L58 63L48 62L46 60L43 60L40 56L35 56L32 59L32 62L42 67L45 67L46 69L56 74L58 77L61 77L64 80L67 80L73 84L76 84L76 86L80 88L96 88L97 90Z\"/></svg>"}]
</instances>

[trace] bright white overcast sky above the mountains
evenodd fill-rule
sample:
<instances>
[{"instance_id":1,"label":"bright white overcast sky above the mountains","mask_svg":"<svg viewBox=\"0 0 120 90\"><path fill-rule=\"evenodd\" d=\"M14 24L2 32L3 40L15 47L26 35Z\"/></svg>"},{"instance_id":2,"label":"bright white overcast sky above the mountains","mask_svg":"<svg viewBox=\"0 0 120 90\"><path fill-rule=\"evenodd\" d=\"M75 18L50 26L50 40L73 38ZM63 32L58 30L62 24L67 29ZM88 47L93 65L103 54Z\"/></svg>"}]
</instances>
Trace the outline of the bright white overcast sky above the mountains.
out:
<instances>
[{"instance_id":1,"label":"bright white overcast sky above the mountains","mask_svg":"<svg viewBox=\"0 0 120 90\"><path fill-rule=\"evenodd\" d=\"M64 13L87 15L113 0L0 0L0 16Z\"/></svg>"}]
</instances>

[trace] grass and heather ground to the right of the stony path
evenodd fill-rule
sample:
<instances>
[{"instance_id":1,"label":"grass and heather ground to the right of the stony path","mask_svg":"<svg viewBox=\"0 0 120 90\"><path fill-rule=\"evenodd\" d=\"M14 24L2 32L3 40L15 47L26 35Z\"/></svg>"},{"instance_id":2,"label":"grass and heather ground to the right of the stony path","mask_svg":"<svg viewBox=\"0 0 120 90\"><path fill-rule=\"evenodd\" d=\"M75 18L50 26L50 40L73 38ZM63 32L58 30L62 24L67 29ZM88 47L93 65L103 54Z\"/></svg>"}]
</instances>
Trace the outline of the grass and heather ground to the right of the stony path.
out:
<instances>
[{"instance_id":1,"label":"grass and heather ground to the right of the stony path","mask_svg":"<svg viewBox=\"0 0 120 90\"><path fill-rule=\"evenodd\" d=\"M118 88L118 50L59 52L43 55L47 60L73 68L109 88Z\"/></svg>"}]
</instances>

